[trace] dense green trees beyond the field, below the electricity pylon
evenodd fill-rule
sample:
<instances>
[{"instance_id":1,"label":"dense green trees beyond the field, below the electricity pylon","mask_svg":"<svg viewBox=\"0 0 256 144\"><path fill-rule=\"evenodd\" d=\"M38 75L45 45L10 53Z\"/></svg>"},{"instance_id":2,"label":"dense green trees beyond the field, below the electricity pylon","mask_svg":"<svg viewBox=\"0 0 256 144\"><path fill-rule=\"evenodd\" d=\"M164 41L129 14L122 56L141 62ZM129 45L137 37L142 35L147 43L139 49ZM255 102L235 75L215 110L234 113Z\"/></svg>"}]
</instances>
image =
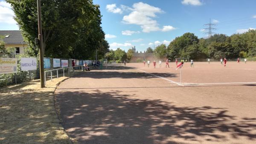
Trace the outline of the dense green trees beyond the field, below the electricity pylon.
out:
<instances>
[{"instance_id":1,"label":"dense green trees beyond the field, below the electricity pylon","mask_svg":"<svg viewBox=\"0 0 256 144\"><path fill-rule=\"evenodd\" d=\"M231 36L215 34L208 39L198 39L193 33L185 33L169 44L167 57L172 60L256 57L256 30Z\"/></svg>"}]
</instances>

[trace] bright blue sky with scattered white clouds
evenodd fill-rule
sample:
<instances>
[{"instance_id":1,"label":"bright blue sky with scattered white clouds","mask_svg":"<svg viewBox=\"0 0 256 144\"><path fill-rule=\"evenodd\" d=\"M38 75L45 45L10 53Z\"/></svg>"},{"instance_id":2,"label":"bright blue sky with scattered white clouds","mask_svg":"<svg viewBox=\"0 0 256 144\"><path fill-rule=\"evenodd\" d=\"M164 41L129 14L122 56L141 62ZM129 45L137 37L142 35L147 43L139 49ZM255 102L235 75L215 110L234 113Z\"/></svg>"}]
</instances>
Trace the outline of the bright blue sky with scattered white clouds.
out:
<instances>
[{"instance_id":1,"label":"bright blue sky with scattered white clouds","mask_svg":"<svg viewBox=\"0 0 256 144\"><path fill-rule=\"evenodd\" d=\"M216 33L232 35L256 28L256 0L94 0L100 5L102 28L111 49L144 51L169 44L185 32L204 34L215 23ZM0 0L0 30L17 30L10 6ZM207 31L205 31L207 32Z\"/></svg>"}]
</instances>

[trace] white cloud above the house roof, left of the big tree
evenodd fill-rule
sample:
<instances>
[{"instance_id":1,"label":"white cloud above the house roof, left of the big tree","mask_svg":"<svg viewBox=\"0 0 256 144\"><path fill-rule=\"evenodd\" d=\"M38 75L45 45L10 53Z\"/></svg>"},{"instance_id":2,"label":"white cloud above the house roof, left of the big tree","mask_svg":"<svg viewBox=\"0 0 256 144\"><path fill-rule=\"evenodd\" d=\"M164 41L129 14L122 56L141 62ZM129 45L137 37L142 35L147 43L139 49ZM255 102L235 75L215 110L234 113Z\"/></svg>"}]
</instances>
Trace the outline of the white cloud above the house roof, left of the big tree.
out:
<instances>
[{"instance_id":1,"label":"white cloud above the house roof, left of the big tree","mask_svg":"<svg viewBox=\"0 0 256 144\"><path fill-rule=\"evenodd\" d=\"M16 24L13 17L14 12L11 9L11 4L0 1L0 23Z\"/></svg>"}]
</instances>

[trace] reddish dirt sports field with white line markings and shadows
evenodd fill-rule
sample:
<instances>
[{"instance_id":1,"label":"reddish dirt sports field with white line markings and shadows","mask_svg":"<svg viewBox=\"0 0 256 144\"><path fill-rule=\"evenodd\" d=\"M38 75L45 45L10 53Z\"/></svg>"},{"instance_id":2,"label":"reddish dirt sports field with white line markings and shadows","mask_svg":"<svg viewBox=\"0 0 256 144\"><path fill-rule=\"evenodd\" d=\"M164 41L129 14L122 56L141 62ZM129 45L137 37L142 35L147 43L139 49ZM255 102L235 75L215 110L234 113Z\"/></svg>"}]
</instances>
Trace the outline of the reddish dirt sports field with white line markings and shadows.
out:
<instances>
[{"instance_id":1,"label":"reddish dirt sports field with white line markings and shadows","mask_svg":"<svg viewBox=\"0 0 256 144\"><path fill-rule=\"evenodd\" d=\"M255 144L256 62L110 65L55 91L62 125L80 143Z\"/></svg>"}]
</instances>

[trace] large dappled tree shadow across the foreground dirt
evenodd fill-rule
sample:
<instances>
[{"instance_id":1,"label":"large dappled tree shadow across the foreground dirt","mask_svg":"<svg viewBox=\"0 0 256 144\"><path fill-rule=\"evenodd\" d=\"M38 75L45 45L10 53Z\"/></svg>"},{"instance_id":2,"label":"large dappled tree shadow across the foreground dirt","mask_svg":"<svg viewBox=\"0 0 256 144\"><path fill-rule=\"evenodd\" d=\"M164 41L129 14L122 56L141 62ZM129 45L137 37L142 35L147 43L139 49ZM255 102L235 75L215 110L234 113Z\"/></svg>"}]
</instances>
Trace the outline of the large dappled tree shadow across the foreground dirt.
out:
<instances>
[{"instance_id":1,"label":"large dappled tree shadow across the foreground dirt","mask_svg":"<svg viewBox=\"0 0 256 144\"><path fill-rule=\"evenodd\" d=\"M128 96L130 98L128 98ZM132 98L131 98L132 96ZM63 127L80 143L221 143L256 141L256 118L238 119L225 108L176 107L122 91L59 92Z\"/></svg>"}]
</instances>

